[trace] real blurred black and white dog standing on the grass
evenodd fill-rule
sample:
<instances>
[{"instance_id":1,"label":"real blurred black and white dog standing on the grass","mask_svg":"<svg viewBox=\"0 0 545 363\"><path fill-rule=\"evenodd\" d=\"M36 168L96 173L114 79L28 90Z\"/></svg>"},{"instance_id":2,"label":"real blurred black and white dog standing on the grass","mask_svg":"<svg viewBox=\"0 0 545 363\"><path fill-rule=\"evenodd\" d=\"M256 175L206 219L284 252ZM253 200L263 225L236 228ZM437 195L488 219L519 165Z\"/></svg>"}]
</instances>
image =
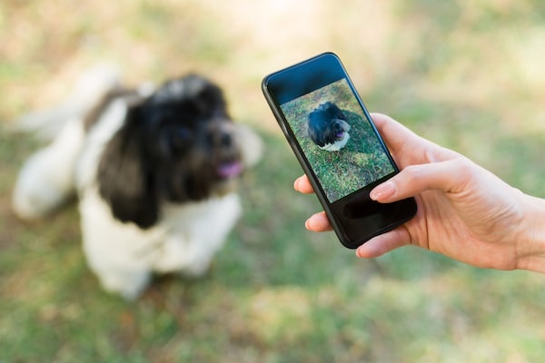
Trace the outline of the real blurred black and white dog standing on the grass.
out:
<instances>
[{"instance_id":1,"label":"real blurred black and white dog standing on the grass","mask_svg":"<svg viewBox=\"0 0 545 363\"><path fill-rule=\"evenodd\" d=\"M80 87L80 107L44 113L70 117L25 163L14 210L42 218L77 195L91 269L104 289L134 299L154 272L208 270L241 214L237 180L262 144L199 75L154 90L103 78Z\"/></svg>"}]
</instances>

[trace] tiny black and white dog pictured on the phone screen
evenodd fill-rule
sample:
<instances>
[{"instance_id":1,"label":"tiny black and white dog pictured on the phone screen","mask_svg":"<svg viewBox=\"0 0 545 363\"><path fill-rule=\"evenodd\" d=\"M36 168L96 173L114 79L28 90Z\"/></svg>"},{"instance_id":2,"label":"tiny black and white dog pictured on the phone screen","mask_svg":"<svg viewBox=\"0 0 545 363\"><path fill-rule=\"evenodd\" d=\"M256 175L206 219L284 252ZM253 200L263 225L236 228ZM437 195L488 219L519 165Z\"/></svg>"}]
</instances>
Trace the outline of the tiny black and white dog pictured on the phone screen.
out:
<instances>
[{"instance_id":1,"label":"tiny black and white dog pictured on the phone screen","mask_svg":"<svg viewBox=\"0 0 545 363\"><path fill-rule=\"evenodd\" d=\"M346 117L335 103L320 104L309 113L308 134L312 141L328 152L338 152L350 139Z\"/></svg>"}]
</instances>

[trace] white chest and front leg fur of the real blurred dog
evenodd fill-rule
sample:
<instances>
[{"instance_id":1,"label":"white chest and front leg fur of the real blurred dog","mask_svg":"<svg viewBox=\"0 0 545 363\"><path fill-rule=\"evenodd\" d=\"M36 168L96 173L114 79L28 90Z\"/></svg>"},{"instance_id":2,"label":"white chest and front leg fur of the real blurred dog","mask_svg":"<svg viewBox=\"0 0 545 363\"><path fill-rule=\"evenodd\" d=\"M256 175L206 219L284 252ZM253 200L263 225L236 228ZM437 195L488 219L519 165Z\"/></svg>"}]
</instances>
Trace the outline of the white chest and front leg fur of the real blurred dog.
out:
<instances>
[{"instance_id":1,"label":"white chest and front leg fur of the real blurred dog","mask_svg":"<svg viewBox=\"0 0 545 363\"><path fill-rule=\"evenodd\" d=\"M89 266L104 289L125 299L138 297L152 272L203 275L242 211L235 193L163 206L163 219L143 231L114 220L94 188L84 193L79 209Z\"/></svg>"}]
</instances>

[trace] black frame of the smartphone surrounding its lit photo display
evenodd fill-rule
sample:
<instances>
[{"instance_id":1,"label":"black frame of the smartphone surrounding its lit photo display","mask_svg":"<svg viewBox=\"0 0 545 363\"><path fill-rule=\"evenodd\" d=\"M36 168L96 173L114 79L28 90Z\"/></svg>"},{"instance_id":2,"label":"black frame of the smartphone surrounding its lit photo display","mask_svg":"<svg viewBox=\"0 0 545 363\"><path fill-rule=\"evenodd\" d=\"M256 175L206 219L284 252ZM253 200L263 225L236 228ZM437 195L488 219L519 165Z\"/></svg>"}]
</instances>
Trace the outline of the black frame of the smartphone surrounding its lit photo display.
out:
<instances>
[{"instance_id":1,"label":"black frame of the smartphone surrounding its lit photo display","mask_svg":"<svg viewBox=\"0 0 545 363\"><path fill-rule=\"evenodd\" d=\"M337 201L330 202L326 197L322 185L318 182L318 178L313 172L305 152L302 150L299 142L297 142L290 123L285 119L280 105L341 79L345 79L350 86L352 95L360 104L362 112L372 126L373 132L377 135L383 152L388 156L394 172L366 185L358 191L353 191ZM391 153L383 142L380 132L378 132L372 122L372 117L362 102L360 94L357 92L350 76L336 54L331 52L318 54L301 63L293 64L269 74L263 78L262 89L267 102L271 106L272 113L292 147L292 151L302 165L303 171L309 176L312 187L316 191L316 195L332 223L333 230L337 233L339 240L341 240L345 247L350 249L357 248L364 241L371 239L375 235L389 231L397 225L409 221L414 216L416 213L416 203L412 199L392 204L379 204L376 201L371 201L369 197L369 192L376 185L390 179L391 176L399 172L399 168L391 157ZM361 213L361 215L356 214L352 218L351 213L353 214L354 212ZM388 217L384 216L386 213L394 213L396 218L389 221ZM351 215L351 217L348 218L347 215ZM370 219L373 221L368 221ZM358 221L362 224L368 221L368 224L376 226L376 228L368 226L369 228L367 229L364 227L360 229Z\"/></svg>"}]
</instances>

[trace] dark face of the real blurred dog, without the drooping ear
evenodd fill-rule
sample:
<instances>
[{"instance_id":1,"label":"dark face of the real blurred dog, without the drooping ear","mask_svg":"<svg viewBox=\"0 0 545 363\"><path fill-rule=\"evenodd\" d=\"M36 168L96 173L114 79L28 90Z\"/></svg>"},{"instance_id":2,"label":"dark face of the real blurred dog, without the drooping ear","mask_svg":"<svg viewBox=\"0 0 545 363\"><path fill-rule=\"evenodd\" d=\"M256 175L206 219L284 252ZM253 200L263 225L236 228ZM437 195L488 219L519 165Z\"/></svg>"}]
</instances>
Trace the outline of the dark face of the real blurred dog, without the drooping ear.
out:
<instances>
[{"instance_id":1,"label":"dark face of the real blurred dog, without the drooping ear","mask_svg":"<svg viewBox=\"0 0 545 363\"><path fill-rule=\"evenodd\" d=\"M138 110L143 146L167 201L200 201L243 168L221 90L197 76L165 83Z\"/></svg>"}]
</instances>

